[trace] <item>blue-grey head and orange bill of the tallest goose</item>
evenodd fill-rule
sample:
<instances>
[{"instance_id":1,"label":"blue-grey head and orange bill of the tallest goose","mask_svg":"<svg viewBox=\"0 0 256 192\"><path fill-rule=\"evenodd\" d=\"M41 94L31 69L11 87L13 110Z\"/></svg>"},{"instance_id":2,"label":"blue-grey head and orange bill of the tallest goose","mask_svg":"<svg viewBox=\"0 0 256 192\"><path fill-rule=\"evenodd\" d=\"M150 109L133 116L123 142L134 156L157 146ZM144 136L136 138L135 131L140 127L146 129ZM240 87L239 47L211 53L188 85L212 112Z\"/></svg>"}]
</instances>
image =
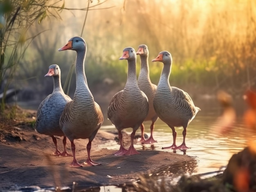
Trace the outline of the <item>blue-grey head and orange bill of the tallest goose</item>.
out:
<instances>
[{"instance_id":1,"label":"blue-grey head and orange bill of the tallest goose","mask_svg":"<svg viewBox=\"0 0 256 192\"><path fill-rule=\"evenodd\" d=\"M74 51L80 51L86 49L86 43L85 40L81 37L73 37L70 40L68 40L67 44L65 44L63 47L58 49L58 51L64 51L64 50L74 50Z\"/></svg>"}]
</instances>

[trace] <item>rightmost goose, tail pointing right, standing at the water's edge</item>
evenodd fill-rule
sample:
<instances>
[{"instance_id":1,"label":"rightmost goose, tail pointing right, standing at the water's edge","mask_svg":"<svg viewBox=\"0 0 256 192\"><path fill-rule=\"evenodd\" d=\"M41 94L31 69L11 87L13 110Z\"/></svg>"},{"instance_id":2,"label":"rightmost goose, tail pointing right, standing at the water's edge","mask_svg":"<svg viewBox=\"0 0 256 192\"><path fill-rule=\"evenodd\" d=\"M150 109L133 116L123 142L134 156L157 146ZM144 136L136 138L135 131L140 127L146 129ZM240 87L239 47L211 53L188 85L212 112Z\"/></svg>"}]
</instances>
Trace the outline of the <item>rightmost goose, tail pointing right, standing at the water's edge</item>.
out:
<instances>
[{"instance_id":1,"label":"rightmost goose, tail pointing right, standing at the water's edge","mask_svg":"<svg viewBox=\"0 0 256 192\"><path fill-rule=\"evenodd\" d=\"M168 51L162 51L152 60L152 62L162 62L164 67L162 69L161 77L157 85L157 90L153 100L153 106L158 117L166 123L173 132L173 144L170 147L163 147L162 149L173 150L187 150L186 146L186 128L189 123L195 118L200 108L196 107L184 90L170 86L169 77L171 74L172 57ZM183 142L180 146L176 146L177 132L175 127L183 126L182 132Z\"/></svg>"}]
</instances>

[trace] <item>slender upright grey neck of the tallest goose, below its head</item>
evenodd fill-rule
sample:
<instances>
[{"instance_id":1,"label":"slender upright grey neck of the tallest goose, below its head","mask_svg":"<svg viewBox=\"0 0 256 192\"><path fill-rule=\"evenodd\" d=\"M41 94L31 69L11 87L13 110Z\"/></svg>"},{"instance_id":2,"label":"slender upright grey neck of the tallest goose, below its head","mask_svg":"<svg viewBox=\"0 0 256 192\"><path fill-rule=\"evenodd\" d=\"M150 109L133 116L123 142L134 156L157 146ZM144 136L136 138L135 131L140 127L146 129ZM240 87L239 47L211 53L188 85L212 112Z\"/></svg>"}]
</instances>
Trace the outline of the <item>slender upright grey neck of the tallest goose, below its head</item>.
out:
<instances>
[{"instance_id":1,"label":"slender upright grey neck of the tallest goose, below its head","mask_svg":"<svg viewBox=\"0 0 256 192\"><path fill-rule=\"evenodd\" d=\"M88 86L84 68L86 50L79 50L76 53L76 87L81 80L84 80L86 86Z\"/></svg>"}]
</instances>

